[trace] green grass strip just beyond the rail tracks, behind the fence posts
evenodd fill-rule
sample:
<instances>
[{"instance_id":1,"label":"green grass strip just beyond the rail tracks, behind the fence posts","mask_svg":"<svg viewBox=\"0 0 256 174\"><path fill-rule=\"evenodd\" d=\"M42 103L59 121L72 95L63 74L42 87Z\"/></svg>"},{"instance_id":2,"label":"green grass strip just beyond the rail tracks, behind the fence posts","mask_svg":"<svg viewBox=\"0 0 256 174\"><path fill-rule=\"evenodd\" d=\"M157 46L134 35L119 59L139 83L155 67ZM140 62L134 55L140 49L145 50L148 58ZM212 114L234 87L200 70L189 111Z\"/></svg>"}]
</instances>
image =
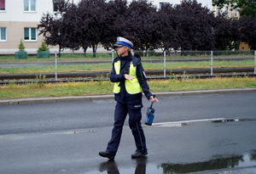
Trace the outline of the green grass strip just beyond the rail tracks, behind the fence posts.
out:
<instances>
[{"instance_id":1,"label":"green grass strip just beyond the rail tracks, behind the fence posts","mask_svg":"<svg viewBox=\"0 0 256 174\"><path fill-rule=\"evenodd\" d=\"M145 70L163 70L163 63L147 63L143 62L143 68ZM253 67L254 60L246 59L241 61L230 60L230 61L213 61L213 68L234 68L234 67ZM80 72L80 71L110 71L112 63L102 64L86 64L86 65L57 65L58 72ZM200 69L211 67L210 61L191 61L191 62L167 62L166 69ZM0 74L18 74L18 73L48 73L55 72L55 66L28 66L23 68L0 67Z\"/></svg>"}]
</instances>

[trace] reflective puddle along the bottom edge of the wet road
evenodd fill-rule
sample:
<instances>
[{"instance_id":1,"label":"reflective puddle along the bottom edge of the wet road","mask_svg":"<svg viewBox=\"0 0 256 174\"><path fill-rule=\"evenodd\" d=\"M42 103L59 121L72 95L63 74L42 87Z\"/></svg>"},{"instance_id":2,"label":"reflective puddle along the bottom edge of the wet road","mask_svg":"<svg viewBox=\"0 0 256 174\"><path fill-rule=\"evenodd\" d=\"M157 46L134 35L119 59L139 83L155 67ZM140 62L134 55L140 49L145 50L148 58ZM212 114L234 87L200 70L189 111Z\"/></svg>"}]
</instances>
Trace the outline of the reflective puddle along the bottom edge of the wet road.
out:
<instances>
[{"instance_id":1,"label":"reflective puddle along the bottom edge of the wet road","mask_svg":"<svg viewBox=\"0 0 256 174\"><path fill-rule=\"evenodd\" d=\"M230 156L214 156L212 160L174 164L162 163L157 166L147 164L147 158L137 159L135 168L124 168L117 164L118 161L108 160L102 162L98 171L85 172L86 174L108 173L108 174L179 174L191 173L198 171L223 170L237 167L256 166L256 150L252 150L251 154L230 155ZM85 174L84 173L84 174Z\"/></svg>"}]
</instances>

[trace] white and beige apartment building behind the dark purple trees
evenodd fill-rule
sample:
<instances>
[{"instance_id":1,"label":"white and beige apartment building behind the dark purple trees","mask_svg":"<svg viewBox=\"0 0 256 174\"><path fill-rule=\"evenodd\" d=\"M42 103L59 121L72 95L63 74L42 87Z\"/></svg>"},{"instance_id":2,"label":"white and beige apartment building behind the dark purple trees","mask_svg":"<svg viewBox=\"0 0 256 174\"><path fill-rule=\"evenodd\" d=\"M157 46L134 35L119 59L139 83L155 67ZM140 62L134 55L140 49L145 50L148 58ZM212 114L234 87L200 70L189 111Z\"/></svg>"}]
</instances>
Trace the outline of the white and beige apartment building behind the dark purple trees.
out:
<instances>
[{"instance_id":1,"label":"white and beige apartment building behind the dark purple trees","mask_svg":"<svg viewBox=\"0 0 256 174\"><path fill-rule=\"evenodd\" d=\"M0 0L0 54L13 54L18 51L20 39L24 42L27 53L37 53L43 41L38 36L37 26L42 14L55 12L55 3L58 0ZM69 0L70 3L79 3L81 0ZM163 3L180 3L180 0L154 0L155 6L160 8ZM202 6L212 8L212 0L198 0ZM50 48L56 51L58 48ZM88 50L90 51L90 50Z\"/></svg>"}]
</instances>

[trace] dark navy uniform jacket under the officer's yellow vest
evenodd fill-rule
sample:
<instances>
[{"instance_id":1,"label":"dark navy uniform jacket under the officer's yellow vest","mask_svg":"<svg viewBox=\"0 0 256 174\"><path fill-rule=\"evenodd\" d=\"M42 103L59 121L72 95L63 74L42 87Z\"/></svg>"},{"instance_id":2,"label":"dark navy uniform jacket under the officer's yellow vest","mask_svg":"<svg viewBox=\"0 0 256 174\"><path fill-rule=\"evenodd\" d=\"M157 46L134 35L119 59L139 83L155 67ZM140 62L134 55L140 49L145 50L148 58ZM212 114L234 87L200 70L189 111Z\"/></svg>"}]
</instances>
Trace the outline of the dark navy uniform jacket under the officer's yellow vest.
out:
<instances>
[{"instance_id":1,"label":"dark navy uniform jacket under the officer's yellow vest","mask_svg":"<svg viewBox=\"0 0 256 174\"><path fill-rule=\"evenodd\" d=\"M120 92L114 94L114 99L115 101L122 103L122 104L142 104L142 97L143 93L145 96L149 99L150 96L153 94L149 92L149 87L147 83L147 78L145 76L144 70L143 70L143 65L141 64L141 59L137 57L131 56L131 54L124 56L124 57L118 57L113 60L113 64L120 60L120 73L119 75L116 74L113 69L110 73L110 81L112 82L118 82L120 86ZM137 79L143 89L143 93L136 93L136 94L129 94L126 92L125 89L125 74L129 74L129 67L131 64L131 61L134 66L137 67Z\"/></svg>"}]
</instances>

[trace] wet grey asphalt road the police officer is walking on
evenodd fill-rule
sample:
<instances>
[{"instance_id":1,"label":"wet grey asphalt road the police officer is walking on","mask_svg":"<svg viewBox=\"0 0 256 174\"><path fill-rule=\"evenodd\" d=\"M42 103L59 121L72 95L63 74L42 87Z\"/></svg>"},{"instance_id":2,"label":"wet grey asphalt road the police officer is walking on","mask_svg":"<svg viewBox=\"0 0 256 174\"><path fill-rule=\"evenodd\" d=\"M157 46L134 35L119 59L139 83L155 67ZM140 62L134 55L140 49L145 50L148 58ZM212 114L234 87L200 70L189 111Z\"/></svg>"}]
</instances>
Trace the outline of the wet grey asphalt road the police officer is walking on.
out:
<instances>
[{"instance_id":1,"label":"wet grey asphalt road the police officer is walking on","mask_svg":"<svg viewBox=\"0 0 256 174\"><path fill-rule=\"evenodd\" d=\"M2 105L0 173L256 173L256 93L159 99L154 125L143 126L148 157L131 159L126 120L114 161L98 155L110 138L113 100Z\"/></svg>"}]
</instances>

